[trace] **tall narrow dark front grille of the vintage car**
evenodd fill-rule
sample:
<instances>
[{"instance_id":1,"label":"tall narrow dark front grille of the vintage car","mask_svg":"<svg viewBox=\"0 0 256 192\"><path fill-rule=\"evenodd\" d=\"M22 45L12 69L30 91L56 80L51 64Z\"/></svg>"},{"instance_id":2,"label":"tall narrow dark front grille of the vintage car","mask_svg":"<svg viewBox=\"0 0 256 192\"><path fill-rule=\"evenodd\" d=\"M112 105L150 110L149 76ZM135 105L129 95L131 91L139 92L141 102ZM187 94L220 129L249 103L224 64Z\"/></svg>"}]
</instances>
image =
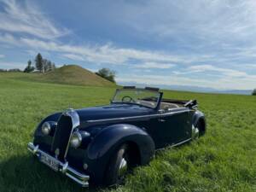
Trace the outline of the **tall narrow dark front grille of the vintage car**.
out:
<instances>
[{"instance_id":1,"label":"tall narrow dark front grille of the vintage car","mask_svg":"<svg viewBox=\"0 0 256 192\"><path fill-rule=\"evenodd\" d=\"M59 160L65 160L66 150L68 147L69 137L73 131L72 117L62 114L58 121L51 151L57 154Z\"/></svg>"}]
</instances>

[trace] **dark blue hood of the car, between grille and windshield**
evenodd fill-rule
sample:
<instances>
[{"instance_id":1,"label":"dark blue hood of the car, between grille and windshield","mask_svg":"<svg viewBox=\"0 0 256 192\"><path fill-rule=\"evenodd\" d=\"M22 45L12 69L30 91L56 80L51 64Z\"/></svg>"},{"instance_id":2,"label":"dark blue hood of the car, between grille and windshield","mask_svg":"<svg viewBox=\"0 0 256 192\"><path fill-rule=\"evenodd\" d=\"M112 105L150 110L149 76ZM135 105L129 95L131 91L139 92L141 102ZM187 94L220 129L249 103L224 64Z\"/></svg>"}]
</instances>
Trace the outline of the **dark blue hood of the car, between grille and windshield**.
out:
<instances>
[{"instance_id":1,"label":"dark blue hood of the car, between grille and windshield","mask_svg":"<svg viewBox=\"0 0 256 192\"><path fill-rule=\"evenodd\" d=\"M95 108L77 109L81 122L96 119L113 119L154 113L154 109L135 104L110 104Z\"/></svg>"}]
</instances>

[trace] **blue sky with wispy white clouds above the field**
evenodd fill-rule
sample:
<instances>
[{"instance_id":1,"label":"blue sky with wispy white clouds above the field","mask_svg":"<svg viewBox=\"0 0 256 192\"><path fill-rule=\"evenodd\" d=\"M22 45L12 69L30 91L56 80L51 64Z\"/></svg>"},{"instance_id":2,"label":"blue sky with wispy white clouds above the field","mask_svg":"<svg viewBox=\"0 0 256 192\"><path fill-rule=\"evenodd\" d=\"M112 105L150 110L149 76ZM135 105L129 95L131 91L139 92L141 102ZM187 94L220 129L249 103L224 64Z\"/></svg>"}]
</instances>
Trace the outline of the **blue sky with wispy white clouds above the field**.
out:
<instances>
[{"instance_id":1,"label":"blue sky with wispy white clouds above the field","mask_svg":"<svg viewBox=\"0 0 256 192\"><path fill-rule=\"evenodd\" d=\"M256 87L255 0L0 0L0 68L40 52L119 84Z\"/></svg>"}]
</instances>

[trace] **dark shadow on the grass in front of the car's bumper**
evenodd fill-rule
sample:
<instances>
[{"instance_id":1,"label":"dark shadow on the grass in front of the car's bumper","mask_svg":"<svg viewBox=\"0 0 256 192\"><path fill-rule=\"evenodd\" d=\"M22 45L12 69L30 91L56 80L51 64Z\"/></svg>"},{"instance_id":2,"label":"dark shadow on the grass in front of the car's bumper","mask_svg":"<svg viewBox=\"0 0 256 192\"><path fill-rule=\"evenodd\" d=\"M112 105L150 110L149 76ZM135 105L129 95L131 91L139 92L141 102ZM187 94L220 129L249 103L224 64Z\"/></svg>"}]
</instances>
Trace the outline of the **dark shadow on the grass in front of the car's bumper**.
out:
<instances>
[{"instance_id":1,"label":"dark shadow on the grass in front of the car's bumper","mask_svg":"<svg viewBox=\"0 0 256 192\"><path fill-rule=\"evenodd\" d=\"M32 155L17 155L0 162L0 191L98 191L84 189L60 172L44 166Z\"/></svg>"}]
</instances>

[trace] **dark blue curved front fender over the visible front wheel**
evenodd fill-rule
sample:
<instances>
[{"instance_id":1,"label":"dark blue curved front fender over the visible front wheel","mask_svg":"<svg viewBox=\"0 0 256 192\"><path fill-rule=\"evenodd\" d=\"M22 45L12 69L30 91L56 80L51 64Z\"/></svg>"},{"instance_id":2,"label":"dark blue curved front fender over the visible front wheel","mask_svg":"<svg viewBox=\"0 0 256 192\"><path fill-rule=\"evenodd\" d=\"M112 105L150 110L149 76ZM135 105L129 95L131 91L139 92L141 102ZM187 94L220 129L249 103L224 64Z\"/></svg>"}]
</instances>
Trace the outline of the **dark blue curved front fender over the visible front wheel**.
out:
<instances>
[{"instance_id":1,"label":"dark blue curved front fender over the visible front wheel","mask_svg":"<svg viewBox=\"0 0 256 192\"><path fill-rule=\"evenodd\" d=\"M154 141L146 131L135 125L108 125L93 138L87 148L92 183L103 183L110 158L121 144L127 142L137 144L141 165L147 164L154 156Z\"/></svg>"}]
</instances>

